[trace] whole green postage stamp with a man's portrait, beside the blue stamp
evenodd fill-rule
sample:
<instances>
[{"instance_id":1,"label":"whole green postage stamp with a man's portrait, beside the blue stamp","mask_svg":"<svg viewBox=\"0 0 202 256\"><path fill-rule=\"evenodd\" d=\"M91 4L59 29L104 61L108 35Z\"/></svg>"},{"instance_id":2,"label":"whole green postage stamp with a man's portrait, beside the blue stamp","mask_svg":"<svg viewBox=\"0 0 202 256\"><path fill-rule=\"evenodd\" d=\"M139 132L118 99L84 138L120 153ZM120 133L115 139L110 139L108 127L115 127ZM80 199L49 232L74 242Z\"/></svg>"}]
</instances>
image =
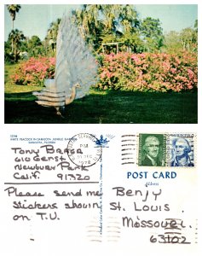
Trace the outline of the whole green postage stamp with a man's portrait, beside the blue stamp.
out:
<instances>
[{"instance_id":1,"label":"whole green postage stamp with a man's portrait, beside the blue stamp","mask_svg":"<svg viewBox=\"0 0 202 256\"><path fill-rule=\"evenodd\" d=\"M165 165L165 140L163 134L139 135L139 166Z\"/></svg>"}]
</instances>

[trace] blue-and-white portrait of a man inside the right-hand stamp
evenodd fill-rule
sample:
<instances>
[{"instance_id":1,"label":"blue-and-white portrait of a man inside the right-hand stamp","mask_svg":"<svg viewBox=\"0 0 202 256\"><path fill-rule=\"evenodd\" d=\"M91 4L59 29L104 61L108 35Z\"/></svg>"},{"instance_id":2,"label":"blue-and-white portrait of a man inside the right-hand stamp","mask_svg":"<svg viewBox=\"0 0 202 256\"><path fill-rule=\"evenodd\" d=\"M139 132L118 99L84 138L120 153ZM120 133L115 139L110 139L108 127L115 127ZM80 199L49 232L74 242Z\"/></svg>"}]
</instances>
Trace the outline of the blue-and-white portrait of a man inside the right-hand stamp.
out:
<instances>
[{"instance_id":1,"label":"blue-and-white portrait of a man inside the right-hand stamp","mask_svg":"<svg viewBox=\"0 0 202 256\"><path fill-rule=\"evenodd\" d=\"M192 137L170 138L170 160L168 161L168 166L194 166Z\"/></svg>"}]
</instances>

